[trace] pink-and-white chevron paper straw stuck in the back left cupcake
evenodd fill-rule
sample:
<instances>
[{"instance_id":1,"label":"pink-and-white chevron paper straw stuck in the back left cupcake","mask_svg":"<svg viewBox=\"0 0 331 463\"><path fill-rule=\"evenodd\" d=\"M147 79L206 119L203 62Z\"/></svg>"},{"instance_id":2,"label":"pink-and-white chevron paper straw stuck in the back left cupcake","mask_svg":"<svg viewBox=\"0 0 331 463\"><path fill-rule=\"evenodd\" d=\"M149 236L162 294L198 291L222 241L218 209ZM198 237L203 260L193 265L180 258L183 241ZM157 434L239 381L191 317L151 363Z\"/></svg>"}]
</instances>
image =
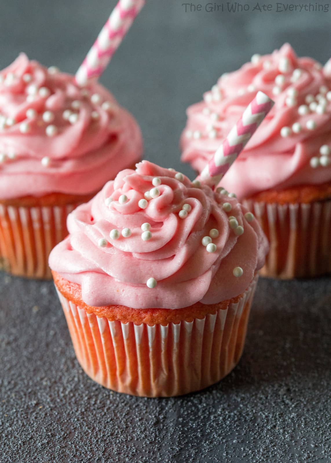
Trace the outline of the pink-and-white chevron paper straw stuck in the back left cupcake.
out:
<instances>
[{"instance_id":1,"label":"pink-and-white chevron paper straw stuck in the back left cupcake","mask_svg":"<svg viewBox=\"0 0 331 463\"><path fill-rule=\"evenodd\" d=\"M144 5L145 0L119 0L76 72L78 85L87 85L102 75Z\"/></svg>"}]
</instances>

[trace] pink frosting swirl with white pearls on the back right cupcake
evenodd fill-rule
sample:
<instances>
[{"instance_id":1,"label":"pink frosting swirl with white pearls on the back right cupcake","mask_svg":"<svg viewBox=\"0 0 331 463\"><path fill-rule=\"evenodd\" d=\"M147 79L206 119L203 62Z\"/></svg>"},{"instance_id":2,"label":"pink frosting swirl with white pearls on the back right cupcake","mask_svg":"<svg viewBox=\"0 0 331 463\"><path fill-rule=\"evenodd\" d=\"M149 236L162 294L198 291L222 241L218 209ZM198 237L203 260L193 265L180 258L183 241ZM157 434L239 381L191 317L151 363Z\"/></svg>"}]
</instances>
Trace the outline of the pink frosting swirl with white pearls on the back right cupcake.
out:
<instances>
[{"instance_id":1,"label":"pink frosting swirl with white pearls on the back right cupcake","mask_svg":"<svg viewBox=\"0 0 331 463\"><path fill-rule=\"evenodd\" d=\"M201 172L261 90L275 101L222 185L240 199L267 189L331 181L331 66L298 58L285 44L223 75L187 110L182 160Z\"/></svg>"}]
</instances>

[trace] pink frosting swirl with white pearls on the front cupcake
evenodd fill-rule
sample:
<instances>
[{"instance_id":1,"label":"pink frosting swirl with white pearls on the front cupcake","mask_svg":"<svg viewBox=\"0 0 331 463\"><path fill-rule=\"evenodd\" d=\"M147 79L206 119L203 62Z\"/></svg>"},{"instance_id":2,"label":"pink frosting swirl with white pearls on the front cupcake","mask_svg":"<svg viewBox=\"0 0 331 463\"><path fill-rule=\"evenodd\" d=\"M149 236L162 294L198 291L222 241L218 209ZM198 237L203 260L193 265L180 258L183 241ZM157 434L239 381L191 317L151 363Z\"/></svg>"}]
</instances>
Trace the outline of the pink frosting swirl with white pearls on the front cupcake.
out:
<instances>
[{"instance_id":1,"label":"pink frosting swirl with white pearls on the front cupcake","mask_svg":"<svg viewBox=\"0 0 331 463\"><path fill-rule=\"evenodd\" d=\"M242 294L267 239L234 195L148 161L69 214L50 267L94 307L177 309Z\"/></svg>"}]
</instances>

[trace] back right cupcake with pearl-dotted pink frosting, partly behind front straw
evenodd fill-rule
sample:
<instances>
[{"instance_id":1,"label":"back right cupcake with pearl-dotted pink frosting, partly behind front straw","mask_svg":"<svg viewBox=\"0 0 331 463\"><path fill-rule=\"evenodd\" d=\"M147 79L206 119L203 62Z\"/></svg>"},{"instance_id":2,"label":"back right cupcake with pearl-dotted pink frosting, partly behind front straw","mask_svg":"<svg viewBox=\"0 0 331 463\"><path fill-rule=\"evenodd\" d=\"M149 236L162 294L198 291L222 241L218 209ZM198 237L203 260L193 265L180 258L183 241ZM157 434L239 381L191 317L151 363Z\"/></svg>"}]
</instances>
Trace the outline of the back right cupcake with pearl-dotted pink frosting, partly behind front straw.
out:
<instances>
[{"instance_id":1,"label":"back right cupcake with pearl-dotted pink frosting, partly behind front straw","mask_svg":"<svg viewBox=\"0 0 331 463\"><path fill-rule=\"evenodd\" d=\"M223 75L188 108L182 160L201 171L258 90L275 100L258 134L222 180L254 213L270 241L261 274L331 272L331 66L285 44Z\"/></svg>"}]
</instances>

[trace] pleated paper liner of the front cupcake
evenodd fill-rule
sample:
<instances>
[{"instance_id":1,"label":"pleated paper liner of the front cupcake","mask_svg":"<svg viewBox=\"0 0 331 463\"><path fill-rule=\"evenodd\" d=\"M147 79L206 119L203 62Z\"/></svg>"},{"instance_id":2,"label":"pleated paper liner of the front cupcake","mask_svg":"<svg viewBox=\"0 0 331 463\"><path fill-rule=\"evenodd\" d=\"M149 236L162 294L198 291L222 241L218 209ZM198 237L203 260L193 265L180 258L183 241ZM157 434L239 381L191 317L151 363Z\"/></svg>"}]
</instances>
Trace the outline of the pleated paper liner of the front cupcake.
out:
<instances>
[{"instance_id":1,"label":"pleated paper liner of the front cupcake","mask_svg":"<svg viewBox=\"0 0 331 463\"><path fill-rule=\"evenodd\" d=\"M109 321L57 293L78 362L94 381L126 394L167 397L210 386L236 366L257 278L227 309L165 326Z\"/></svg>"}]
</instances>

